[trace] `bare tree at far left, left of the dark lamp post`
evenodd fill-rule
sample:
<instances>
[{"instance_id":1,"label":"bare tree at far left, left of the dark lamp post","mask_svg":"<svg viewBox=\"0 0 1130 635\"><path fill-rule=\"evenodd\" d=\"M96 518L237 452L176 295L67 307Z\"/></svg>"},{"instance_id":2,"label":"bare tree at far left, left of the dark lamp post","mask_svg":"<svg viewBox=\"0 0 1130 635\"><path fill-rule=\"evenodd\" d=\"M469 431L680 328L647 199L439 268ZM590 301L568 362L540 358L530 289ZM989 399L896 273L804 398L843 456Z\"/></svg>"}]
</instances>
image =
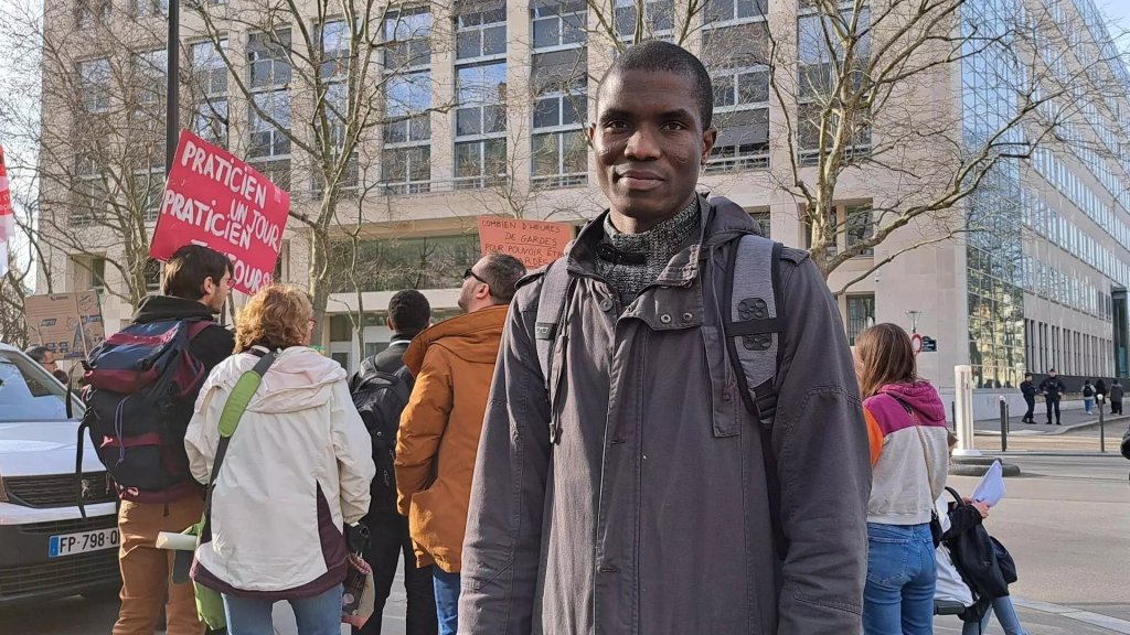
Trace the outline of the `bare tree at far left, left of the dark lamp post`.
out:
<instances>
[{"instance_id":1,"label":"bare tree at far left, left of the dark lamp post","mask_svg":"<svg viewBox=\"0 0 1130 635\"><path fill-rule=\"evenodd\" d=\"M42 14L34 2L12 3L0 23L16 66L0 79L0 107L17 114L3 132L35 148L12 165L35 183L14 192L33 212L20 223L31 247L45 272L69 255L92 284L136 306L159 271L147 229L165 180L159 24L112 21L108 2L47 5ZM20 108L27 95L40 98L37 108Z\"/></svg>"}]
</instances>

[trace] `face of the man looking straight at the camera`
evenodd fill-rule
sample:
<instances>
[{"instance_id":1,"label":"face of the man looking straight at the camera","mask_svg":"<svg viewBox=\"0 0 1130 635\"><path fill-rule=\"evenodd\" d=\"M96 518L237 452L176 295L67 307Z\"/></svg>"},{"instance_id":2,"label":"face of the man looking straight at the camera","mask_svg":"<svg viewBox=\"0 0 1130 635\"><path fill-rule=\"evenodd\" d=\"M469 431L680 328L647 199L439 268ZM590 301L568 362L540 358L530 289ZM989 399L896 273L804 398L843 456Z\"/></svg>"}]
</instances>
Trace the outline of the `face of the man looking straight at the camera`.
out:
<instances>
[{"instance_id":1,"label":"face of the man looking straight at the camera","mask_svg":"<svg viewBox=\"0 0 1130 635\"><path fill-rule=\"evenodd\" d=\"M703 130L694 80L668 71L618 71L598 96L589 139L615 214L645 232L690 201L718 132Z\"/></svg>"}]
</instances>

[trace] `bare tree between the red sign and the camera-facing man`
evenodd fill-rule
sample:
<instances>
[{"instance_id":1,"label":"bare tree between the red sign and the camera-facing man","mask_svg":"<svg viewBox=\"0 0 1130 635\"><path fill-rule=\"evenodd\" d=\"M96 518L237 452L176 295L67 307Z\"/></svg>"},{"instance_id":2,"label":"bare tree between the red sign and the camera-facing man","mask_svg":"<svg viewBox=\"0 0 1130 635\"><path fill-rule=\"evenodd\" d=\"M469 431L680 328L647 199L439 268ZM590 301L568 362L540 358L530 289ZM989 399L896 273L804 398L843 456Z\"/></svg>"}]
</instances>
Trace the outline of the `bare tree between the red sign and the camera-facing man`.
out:
<instances>
[{"instance_id":1,"label":"bare tree between the red sign and the camera-facing man","mask_svg":"<svg viewBox=\"0 0 1130 635\"><path fill-rule=\"evenodd\" d=\"M246 104L245 119L231 108L231 145L292 191L290 217L310 241L316 314L334 285L340 290L353 278L358 258L344 247L357 243L341 227L362 203L429 190L429 119L450 107L431 98L432 55L446 41L437 7L252 0L193 10L194 28L228 71L232 97ZM382 143L379 171L373 157ZM363 180L377 172L377 186Z\"/></svg>"}]
</instances>

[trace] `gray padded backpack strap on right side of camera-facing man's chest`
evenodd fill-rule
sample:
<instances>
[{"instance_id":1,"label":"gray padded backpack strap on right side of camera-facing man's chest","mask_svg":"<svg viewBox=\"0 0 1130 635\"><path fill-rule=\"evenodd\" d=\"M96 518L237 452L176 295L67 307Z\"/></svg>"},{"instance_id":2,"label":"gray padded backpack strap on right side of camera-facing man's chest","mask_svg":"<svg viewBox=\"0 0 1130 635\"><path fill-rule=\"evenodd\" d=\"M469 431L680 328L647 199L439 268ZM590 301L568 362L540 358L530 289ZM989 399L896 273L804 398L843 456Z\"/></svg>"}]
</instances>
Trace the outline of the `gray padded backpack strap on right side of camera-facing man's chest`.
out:
<instances>
[{"instance_id":1,"label":"gray padded backpack strap on right side of camera-facing man's chest","mask_svg":"<svg viewBox=\"0 0 1130 635\"><path fill-rule=\"evenodd\" d=\"M730 249L722 289L722 328L738 392L758 421L762 460L770 498L770 520L777 555L789 541L781 524L781 477L773 452L776 374L784 351L784 302L781 290L781 243L748 234Z\"/></svg>"}]
</instances>

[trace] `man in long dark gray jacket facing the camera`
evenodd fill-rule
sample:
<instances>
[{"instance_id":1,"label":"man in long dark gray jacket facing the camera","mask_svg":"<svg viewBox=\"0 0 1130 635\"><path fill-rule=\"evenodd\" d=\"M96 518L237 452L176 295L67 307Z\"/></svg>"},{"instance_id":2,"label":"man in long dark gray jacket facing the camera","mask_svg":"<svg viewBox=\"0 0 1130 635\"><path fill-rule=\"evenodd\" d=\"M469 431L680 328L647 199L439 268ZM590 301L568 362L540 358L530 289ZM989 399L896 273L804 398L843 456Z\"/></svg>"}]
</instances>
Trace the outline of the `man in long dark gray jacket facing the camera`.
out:
<instances>
[{"instance_id":1,"label":"man in long dark gray jacket facing the camera","mask_svg":"<svg viewBox=\"0 0 1130 635\"><path fill-rule=\"evenodd\" d=\"M871 468L851 353L816 267L783 250L768 478L720 305L704 301L727 285L729 250L758 232L695 193L712 95L702 63L662 42L629 49L601 81L589 134L610 209L558 263L570 290L556 329L538 320L544 276L511 305L471 490L462 634L862 628Z\"/></svg>"}]
</instances>

